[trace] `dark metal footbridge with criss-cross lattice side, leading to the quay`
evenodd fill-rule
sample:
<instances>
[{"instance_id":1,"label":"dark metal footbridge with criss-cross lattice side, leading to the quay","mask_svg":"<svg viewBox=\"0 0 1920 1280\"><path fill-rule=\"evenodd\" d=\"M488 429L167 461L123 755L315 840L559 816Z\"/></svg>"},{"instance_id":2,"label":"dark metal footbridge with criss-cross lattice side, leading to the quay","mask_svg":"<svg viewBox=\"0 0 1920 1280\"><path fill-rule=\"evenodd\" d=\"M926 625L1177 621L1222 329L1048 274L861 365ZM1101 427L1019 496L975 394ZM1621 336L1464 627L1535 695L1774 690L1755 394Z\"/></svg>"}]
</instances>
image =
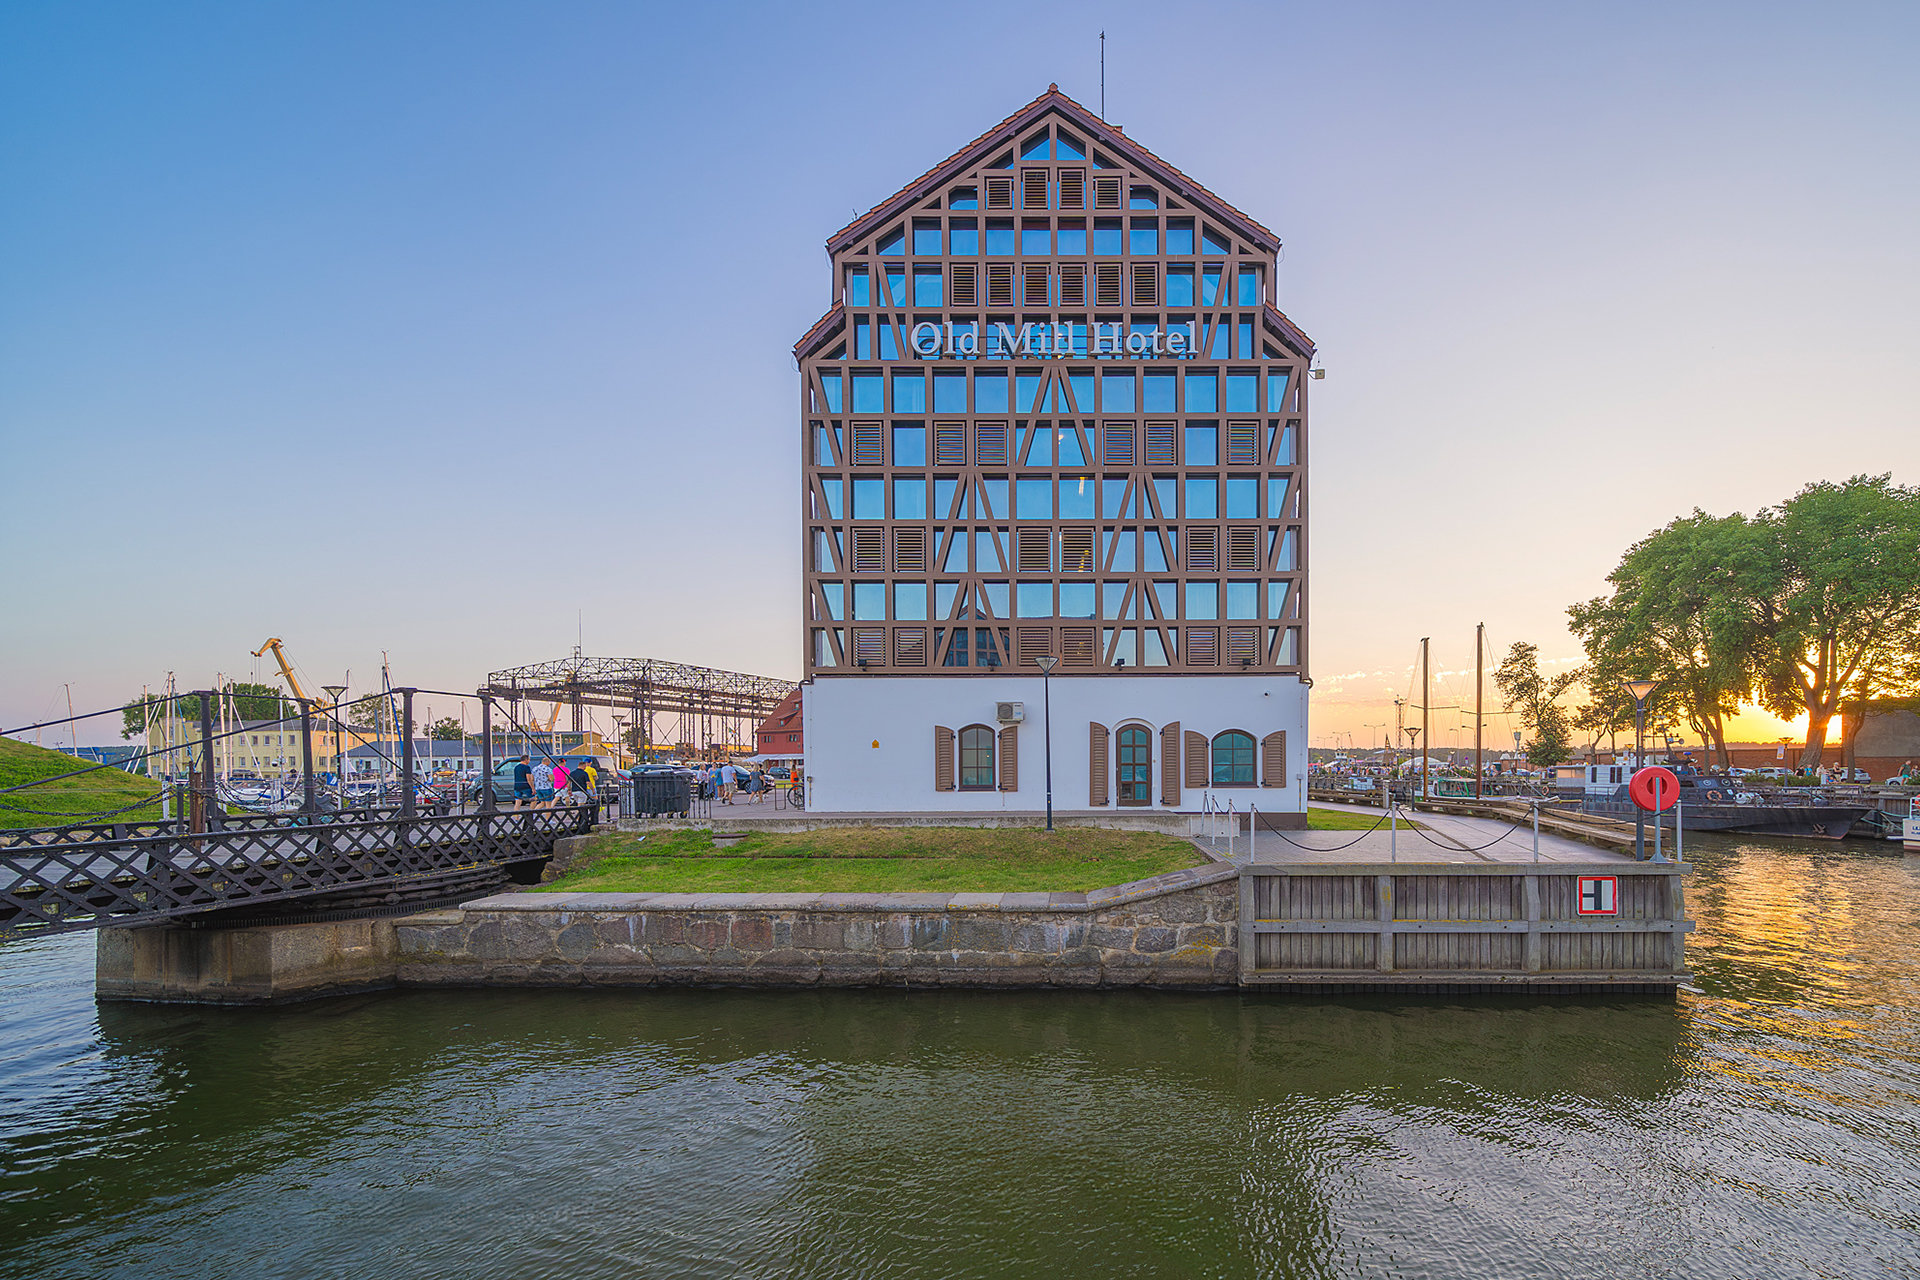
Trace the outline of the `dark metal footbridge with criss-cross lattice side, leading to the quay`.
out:
<instances>
[{"instance_id":1,"label":"dark metal footbridge with criss-cross lattice side, leading to the quay","mask_svg":"<svg viewBox=\"0 0 1920 1280\"><path fill-rule=\"evenodd\" d=\"M490 892L593 829L593 804L407 808L0 831L0 940L159 921L300 923Z\"/></svg>"}]
</instances>

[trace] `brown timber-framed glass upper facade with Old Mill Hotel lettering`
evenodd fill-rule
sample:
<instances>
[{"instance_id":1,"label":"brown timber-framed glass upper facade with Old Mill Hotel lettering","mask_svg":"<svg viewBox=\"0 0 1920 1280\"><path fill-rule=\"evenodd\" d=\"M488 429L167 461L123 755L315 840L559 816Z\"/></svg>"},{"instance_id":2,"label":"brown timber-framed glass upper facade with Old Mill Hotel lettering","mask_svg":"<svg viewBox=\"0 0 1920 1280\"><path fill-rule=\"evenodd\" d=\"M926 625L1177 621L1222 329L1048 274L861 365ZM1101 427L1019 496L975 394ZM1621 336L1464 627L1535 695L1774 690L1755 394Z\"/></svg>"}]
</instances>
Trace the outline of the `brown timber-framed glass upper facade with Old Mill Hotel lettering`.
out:
<instances>
[{"instance_id":1,"label":"brown timber-framed glass upper facade with Old Mill Hotel lettering","mask_svg":"<svg viewBox=\"0 0 1920 1280\"><path fill-rule=\"evenodd\" d=\"M1058 109L835 236L797 351L808 674L1300 672L1311 347L1277 249Z\"/></svg>"}]
</instances>

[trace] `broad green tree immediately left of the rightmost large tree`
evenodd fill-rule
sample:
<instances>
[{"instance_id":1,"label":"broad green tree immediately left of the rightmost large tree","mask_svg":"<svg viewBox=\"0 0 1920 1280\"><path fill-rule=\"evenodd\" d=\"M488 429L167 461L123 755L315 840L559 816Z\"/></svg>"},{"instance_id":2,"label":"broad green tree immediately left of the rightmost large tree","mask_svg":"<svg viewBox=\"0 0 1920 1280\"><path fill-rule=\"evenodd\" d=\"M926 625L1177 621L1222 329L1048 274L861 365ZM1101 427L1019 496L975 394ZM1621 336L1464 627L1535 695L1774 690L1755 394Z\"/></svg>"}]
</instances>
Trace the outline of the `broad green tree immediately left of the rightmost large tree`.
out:
<instances>
[{"instance_id":1,"label":"broad green tree immediately left of the rightmost large tree","mask_svg":"<svg viewBox=\"0 0 1920 1280\"><path fill-rule=\"evenodd\" d=\"M1607 576L1613 595L1567 610L1586 647L1582 727L1632 727L1626 679L1657 679L1649 718L1684 718L1728 764L1726 720L1755 683L1755 610L1741 578L1764 564L1764 530L1703 510L1628 547Z\"/></svg>"}]
</instances>

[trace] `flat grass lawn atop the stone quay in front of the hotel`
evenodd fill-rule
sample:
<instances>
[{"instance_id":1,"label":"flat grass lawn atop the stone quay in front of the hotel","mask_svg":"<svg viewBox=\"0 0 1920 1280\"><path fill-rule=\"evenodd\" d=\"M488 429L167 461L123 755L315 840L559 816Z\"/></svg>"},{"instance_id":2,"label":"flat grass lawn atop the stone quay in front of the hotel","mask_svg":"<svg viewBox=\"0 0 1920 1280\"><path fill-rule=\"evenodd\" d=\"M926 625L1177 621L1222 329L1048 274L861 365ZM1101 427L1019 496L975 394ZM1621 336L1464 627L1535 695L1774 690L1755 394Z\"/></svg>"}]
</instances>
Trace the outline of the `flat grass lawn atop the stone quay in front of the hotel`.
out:
<instances>
[{"instance_id":1,"label":"flat grass lawn atop the stone quay in front of the hotel","mask_svg":"<svg viewBox=\"0 0 1920 1280\"><path fill-rule=\"evenodd\" d=\"M603 835L543 890L555 892L1016 892L1087 890L1204 862L1154 831L1060 827L828 827L755 833Z\"/></svg>"}]
</instances>

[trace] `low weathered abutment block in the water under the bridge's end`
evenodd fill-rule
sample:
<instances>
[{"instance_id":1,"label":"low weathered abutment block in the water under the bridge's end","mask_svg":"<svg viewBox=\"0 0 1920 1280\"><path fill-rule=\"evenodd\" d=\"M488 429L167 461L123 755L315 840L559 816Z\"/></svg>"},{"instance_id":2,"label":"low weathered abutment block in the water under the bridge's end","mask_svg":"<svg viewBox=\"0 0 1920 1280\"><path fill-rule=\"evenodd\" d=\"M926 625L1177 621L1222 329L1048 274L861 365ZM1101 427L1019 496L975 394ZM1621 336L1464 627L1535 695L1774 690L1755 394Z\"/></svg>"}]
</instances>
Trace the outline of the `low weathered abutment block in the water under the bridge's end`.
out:
<instances>
[{"instance_id":1,"label":"low weathered abutment block in the water under the bridge's end","mask_svg":"<svg viewBox=\"0 0 1920 1280\"><path fill-rule=\"evenodd\" d=\"M96 935L94 994L163 1004L271 1004L394 984L392 919Z\"/></svg>"}]
</instances>

